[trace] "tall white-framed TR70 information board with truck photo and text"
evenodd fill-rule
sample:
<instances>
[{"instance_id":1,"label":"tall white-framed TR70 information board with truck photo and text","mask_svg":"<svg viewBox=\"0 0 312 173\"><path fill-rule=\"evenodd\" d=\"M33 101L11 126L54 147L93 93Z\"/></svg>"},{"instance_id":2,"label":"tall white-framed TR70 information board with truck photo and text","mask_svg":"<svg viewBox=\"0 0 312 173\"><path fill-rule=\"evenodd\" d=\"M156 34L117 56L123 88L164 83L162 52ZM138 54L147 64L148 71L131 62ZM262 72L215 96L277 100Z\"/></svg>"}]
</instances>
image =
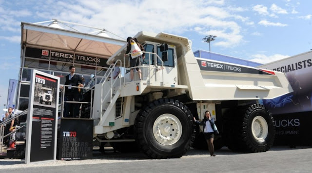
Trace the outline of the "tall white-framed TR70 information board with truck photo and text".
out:
<instances>
[{"instance_id":1,"label":"tall white-framed TR70 information board with truck photo and text","mask_svg":"<svg viewBox=\"0 0 312 173\"><path fill-rule=\"evenodd\" d=\"M33 70L25 163L56 160L59 77Z\"/></svg>"}]
</instances>

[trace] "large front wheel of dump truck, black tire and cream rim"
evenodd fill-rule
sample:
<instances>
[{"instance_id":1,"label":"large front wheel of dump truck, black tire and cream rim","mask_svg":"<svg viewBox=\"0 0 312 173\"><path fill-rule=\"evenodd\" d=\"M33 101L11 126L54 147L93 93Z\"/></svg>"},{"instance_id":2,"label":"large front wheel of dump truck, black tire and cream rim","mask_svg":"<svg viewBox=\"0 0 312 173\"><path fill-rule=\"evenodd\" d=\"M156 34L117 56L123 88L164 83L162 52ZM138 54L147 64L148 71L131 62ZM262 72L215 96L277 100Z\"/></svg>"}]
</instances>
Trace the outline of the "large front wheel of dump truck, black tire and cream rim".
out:
<instances>
[{"instance_id":1,"label":"large front wheel of dump truck, black tire and cream rim","mask_svg":"<svg viewBox=\"0 0 312 173\"><path fill-rule=\"evenodd\" d=\"M195 125L191 111L174 99L158 99L137 115L135 138L149 157L179 158L193 144Z\"/></svg>"}]
</instances>

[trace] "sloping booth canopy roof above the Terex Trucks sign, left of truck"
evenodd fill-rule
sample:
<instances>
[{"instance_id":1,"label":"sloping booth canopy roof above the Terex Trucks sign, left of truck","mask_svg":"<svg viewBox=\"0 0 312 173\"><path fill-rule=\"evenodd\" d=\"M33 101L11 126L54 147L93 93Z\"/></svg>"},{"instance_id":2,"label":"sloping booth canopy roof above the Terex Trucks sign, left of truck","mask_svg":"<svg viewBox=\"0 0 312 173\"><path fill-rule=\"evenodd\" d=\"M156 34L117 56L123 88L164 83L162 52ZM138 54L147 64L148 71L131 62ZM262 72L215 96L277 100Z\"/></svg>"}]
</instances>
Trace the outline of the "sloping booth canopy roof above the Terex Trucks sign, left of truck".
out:
<instances>
[{"instance_id":1,"label":"sloping booth canopy roof above the Terex Trucks sign, left of truck","mask_svg":"<svg viewBox=\"0 0 312 173\"><path fill-rule=\"evenodd\" d=\"M103 58L111 57L124 40L21 22L21 46L46 47Z\"/></svg>"}]
</instances>

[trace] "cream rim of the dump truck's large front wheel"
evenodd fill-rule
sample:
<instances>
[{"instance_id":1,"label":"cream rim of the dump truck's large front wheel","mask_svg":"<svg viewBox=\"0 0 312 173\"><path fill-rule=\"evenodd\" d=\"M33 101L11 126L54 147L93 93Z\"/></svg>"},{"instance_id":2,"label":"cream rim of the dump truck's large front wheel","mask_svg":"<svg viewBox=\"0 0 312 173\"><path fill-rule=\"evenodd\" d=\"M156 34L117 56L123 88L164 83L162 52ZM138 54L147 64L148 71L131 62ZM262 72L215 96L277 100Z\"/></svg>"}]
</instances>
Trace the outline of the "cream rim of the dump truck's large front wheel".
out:
<instances>
[{"instance_id":1,"label":"cream rim of the dump truck's large front wheel","mask_svg":"<svg viewBox=\"0 0 312 173\"><path fill-rule=\"evenodd\" d=\"M160 115L154 122L153 134L160 144L173 145L182 135L182 124L175 115Z\"/></svg>"}]
</instances>

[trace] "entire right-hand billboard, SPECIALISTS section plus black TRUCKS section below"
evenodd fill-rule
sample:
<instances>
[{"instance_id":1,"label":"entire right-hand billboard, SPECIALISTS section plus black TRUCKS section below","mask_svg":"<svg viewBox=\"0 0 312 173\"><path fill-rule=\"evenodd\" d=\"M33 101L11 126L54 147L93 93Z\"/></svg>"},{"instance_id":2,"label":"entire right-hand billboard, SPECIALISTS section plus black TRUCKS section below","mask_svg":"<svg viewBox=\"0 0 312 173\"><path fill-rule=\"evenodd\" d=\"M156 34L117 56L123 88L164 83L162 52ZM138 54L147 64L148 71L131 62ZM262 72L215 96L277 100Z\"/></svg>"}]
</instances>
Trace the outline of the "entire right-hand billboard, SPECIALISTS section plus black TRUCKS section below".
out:
<instances>
[{"instance_id":1,"label":"entire right-hand billboard, SPECIALISTS section plus black TRUCKS section below","mask_svg":"<svg viewBox=\"0 0 312 173\"><path fill-rule=\"evenodd\" d=\"M276 145L310 145L312 121L312 51L259 66L284 72L293 92L262 100L273 114Z\"/></svg>"}]
</instances>

